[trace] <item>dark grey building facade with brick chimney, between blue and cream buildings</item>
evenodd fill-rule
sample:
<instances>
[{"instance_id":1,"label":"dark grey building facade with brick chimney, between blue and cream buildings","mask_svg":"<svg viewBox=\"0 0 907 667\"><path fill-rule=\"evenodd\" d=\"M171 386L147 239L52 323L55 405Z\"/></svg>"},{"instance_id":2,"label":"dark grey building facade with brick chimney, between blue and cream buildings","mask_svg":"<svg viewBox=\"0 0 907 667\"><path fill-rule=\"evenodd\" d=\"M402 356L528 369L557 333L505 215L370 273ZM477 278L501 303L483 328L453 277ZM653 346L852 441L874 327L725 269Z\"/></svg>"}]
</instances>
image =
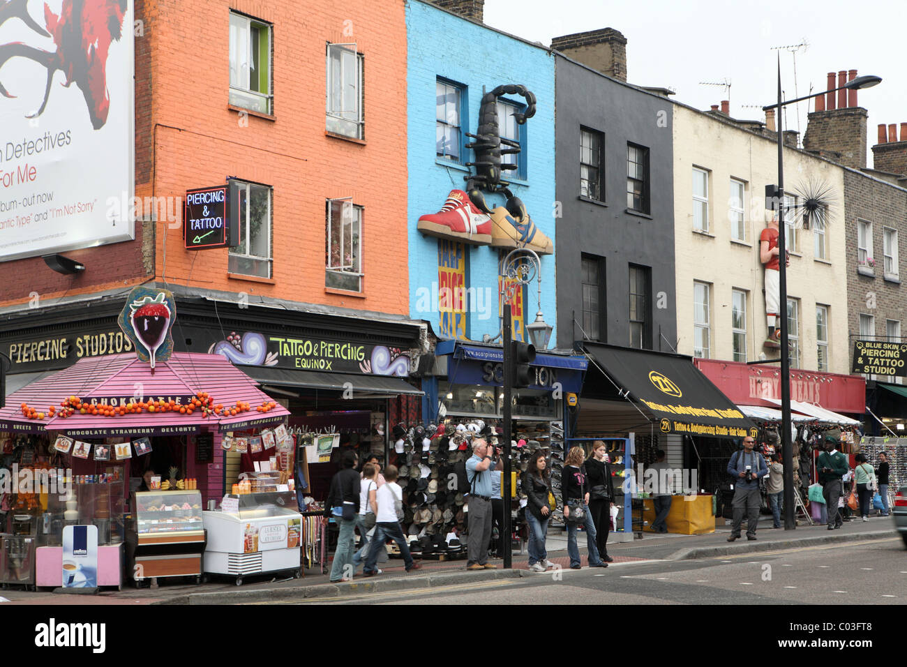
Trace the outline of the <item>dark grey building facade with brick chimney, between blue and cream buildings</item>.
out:
<instances>
[{"instance_id":1,"label":"dark grey building facade with brick chimney, between blue and cream buildings","mask_svg":"<svg viewBox=\"0 0 907 667\"><path fill-rule=\"evenodd\" d=\"M558 348L592 340L674 351L677 341L671 103L668 91L621 80L625 45L610 28L551 44L561 52Z\"/></svg>"}]
</instances>

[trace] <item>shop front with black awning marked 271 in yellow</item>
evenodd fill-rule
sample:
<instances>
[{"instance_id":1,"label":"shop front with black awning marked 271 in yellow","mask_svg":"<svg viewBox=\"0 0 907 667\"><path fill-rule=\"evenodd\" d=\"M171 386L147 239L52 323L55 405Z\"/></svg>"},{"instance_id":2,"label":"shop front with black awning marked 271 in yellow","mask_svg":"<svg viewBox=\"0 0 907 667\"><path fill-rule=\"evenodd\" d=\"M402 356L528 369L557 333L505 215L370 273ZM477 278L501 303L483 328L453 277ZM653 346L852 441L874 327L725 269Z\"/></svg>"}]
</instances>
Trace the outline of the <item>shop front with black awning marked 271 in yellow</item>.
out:
<instances>
[{"instance_id":1,"label":"shop front with black awning marked 271 in yellow","mask_svg":"<svg viewBox=\"0 0 907 667\"><path fill-rule=\"evenodd\" d=\"M671 504L669 532L714 531L714 487L707 481L704 453L723 447L730 456L744 436L756 435L756 425L689 357L595 343L583 348L590 370L573 442L587 453L595 440L610 444L612 475L624 482L614 485L617 530L626 537L649 530L654 519L649 498L669 489L684 496L684 502L677 498ZM649 466L659 449L670 475L656 481Z\"/></svg>"}]
</instances>

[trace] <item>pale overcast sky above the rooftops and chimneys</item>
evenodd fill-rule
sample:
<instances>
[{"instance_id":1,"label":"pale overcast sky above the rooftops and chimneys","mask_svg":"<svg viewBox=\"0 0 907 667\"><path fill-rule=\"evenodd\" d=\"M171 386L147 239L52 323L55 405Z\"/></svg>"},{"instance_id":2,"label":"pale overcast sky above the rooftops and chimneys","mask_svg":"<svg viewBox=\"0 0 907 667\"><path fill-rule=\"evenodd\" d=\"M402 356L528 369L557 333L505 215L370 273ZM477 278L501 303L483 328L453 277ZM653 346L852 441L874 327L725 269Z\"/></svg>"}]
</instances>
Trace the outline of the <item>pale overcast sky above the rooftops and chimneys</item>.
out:
<instances>
[{"instance_id":1,"label":"pale overcast sky above the rooftops and chimneys","mask_svg":"<svg viewBox=\"0 0 907 667\"><path fill-rule=\"evenodd\" d=\"M673 99L702 110L729 99L731 116L754 120L765 120L761 107L777 96L773 47L806 42L795 53L780 50L785 99L826 90L832 71L883 78L857 100L869 112L871 167L877 124L897 123L900 138L900 123L907 123L905 7L902 0L485 0L484 19L546 46L562 34L615 28L627 38L629 83L671 88ZM725 81L729 93L699 83ZM801 141L806 113L806 103L787 107L785 129L799 129Z\"/></svg>"}]
</instances>

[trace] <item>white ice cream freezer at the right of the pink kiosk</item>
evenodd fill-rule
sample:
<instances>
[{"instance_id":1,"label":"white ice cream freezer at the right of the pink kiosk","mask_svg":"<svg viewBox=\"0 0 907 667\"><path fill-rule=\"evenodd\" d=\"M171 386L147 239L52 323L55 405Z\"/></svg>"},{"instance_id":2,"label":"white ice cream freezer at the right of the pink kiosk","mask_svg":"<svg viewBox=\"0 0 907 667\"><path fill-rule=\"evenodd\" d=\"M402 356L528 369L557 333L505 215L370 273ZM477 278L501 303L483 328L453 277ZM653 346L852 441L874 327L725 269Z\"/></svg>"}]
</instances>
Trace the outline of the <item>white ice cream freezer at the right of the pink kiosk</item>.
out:
<instances>
[{"instance_id":1,"label":"white ice cream freezer at the right of the pink kiosk","mask_svg":"<svg viewBox=\"0 0 907 667\"><path fill-rule=\"evenodd\" d=\"M286 571L298 577L302 515L297 506L296 495L285 491L230 495L220 509L204 512L205 573L235 576L237 585L247 574Z\"/></svg>"}]
</instances>

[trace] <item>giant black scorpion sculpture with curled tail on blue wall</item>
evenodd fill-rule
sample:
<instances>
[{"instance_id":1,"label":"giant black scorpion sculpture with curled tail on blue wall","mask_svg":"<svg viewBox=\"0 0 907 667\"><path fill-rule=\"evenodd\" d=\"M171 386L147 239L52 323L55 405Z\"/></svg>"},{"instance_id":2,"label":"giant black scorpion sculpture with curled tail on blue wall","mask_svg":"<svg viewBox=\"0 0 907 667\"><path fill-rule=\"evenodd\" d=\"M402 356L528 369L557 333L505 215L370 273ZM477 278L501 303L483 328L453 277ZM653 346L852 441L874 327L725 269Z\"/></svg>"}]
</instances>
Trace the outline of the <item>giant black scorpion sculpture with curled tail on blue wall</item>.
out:
<instances>
[{"instance_id":1,"label":"giant black scorpion sculpture with curled tail on blue wall","mask_svg":"<svg viewBox=\"0 0 907 667\"><path fill-rule=\"evenodd\" d=\"M522 95L526 99L526 111L513 114L517 124L526 123L526 119L535 115L535 95L526 90L524 85L499 85L490 93L485 93L482 96L482 106L479 109L478 133L470 134L466 132L467 137L475 140L466 144L466 148L472 148L475 152L475 162L466 162L466 166L475 167L475 174L464 176L463 179L467 181L466 191L469 193L469 198L480 210L486 213L491 213L492 211L485 203L485 198L482 194L483 190L489 193L502 192L502 194L506 195L509 204L508 209L511 209L511 205L514 209L522 208L522 202L516 200L512 192L507 188L510 183L501 178L502 172L517 168L515 164L502 163L502 155L515 155L520 152L520 144L518 142L501 138L501 131L498 126L498 98L502 95L512 94ZM511 202L513 203L511 204Z\"/></svg>"}]
</instances>

